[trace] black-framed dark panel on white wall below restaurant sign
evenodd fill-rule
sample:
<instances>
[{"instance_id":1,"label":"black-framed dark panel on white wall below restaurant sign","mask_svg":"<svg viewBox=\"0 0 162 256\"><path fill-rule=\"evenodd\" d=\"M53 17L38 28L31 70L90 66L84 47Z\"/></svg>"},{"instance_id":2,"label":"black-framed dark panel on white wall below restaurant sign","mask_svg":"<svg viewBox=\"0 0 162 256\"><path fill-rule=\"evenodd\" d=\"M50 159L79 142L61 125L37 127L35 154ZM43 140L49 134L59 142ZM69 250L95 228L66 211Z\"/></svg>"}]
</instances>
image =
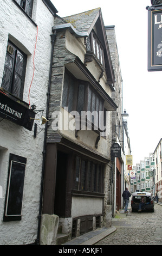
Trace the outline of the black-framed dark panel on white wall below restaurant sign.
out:
<instances>
[{"instance_id":1,"label":"black-framed dark panel on white wall below restaurant sign","mask_svg":"<svg viewBox=\"0 0 162 256\"><path fill-rule=\"evenodd\" d=\"M27 159L10 154L3 221L20 221Z\"/></svg>"}]
</instances>

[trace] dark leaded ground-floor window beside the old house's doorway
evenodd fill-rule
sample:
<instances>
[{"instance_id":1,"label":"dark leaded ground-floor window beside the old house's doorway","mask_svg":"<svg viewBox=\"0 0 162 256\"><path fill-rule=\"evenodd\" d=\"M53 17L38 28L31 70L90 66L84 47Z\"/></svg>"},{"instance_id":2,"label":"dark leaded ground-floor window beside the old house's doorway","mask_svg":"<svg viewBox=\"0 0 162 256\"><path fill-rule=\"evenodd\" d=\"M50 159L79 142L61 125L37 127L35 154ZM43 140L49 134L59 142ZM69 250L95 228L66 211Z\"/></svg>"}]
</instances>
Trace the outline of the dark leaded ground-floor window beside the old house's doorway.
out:
<instances>
[{"instance_id":1,"label":"dark leaded ground-floor window beside the old house's doorway","mask_svg":"<svg viewBox=\"0 0 162 256\"><path fill-rule=\"evenodd\" d=\"M104 165L76 156L74 189L103 193Z\"/></svg>"}]
</instances>

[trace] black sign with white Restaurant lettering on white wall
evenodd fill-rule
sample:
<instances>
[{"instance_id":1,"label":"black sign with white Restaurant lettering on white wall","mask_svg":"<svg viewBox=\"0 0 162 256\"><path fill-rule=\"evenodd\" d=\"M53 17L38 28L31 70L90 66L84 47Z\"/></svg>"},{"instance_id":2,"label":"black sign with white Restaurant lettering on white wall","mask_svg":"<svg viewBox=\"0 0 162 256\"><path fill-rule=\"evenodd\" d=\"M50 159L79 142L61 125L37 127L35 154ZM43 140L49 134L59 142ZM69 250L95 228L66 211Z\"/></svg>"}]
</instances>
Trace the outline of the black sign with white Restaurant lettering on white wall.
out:
<instances>
[{"instance_id":1,"label":"black sign with white Restaurant lettering on white wall","mask_svg":"<svg viewBox=\"0 0 162 256\"><path fill-rule=\"evenodd\" d=\"M0 117L31 131L35 112L0 91Z\"/></svg>"}]
</instances>

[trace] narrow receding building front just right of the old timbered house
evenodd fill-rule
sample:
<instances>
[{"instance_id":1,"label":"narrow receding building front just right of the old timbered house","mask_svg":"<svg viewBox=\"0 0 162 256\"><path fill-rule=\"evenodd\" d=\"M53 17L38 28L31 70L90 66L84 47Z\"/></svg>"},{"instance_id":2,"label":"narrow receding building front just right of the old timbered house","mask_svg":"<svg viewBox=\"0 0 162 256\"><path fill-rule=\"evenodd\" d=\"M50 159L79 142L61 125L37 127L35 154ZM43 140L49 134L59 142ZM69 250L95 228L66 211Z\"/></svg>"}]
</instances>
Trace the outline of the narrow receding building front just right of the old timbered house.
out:
<instances>
[{"instance_id":1,"label":"narrow receding building front just right of the old timbered house","mask_svg":"<svg viewBox=\"0 0 162 256\"><path fill-rule=\"evenodd\" d=\"M112 99L118 106L118 109L112 112L112 144L117 143L121 147L120 156L113 157L112 159L112 174L109 180L109 202L111 202L112 214L114 216L116 210L123 207L122 192L125 190L125 187L129 188L126 155L131 154L131 145L126 118L128 114L123 109L123 82L116 44L115 26L106 26L106 34L115 76L115 90L112 92Z\"/></svg>"}]
</instances>

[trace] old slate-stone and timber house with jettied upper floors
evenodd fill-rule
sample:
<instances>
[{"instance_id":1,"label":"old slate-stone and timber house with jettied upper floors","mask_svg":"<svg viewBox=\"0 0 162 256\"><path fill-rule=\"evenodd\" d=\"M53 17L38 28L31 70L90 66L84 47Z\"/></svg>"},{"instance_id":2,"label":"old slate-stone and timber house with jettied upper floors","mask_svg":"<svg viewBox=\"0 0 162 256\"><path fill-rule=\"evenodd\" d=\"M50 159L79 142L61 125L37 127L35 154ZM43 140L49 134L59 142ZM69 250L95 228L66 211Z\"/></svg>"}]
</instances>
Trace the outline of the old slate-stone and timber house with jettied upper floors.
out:
<instances>
[{"instance_id":1,"label":"old slate-stone and timber house with jettied upper floors","mask_svg":"<svg viewBox=\"0 0 162 256\"><path fill-rule=\"evenodd\" d=\"M55 243L57 222L69 239L111 225L111 120L118 108L112 99L115 76L101 9L56 16L53 33L44 244ZM53 234L48 240L47 230Z\"/></svg>"}]
</instances>

